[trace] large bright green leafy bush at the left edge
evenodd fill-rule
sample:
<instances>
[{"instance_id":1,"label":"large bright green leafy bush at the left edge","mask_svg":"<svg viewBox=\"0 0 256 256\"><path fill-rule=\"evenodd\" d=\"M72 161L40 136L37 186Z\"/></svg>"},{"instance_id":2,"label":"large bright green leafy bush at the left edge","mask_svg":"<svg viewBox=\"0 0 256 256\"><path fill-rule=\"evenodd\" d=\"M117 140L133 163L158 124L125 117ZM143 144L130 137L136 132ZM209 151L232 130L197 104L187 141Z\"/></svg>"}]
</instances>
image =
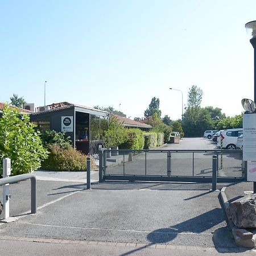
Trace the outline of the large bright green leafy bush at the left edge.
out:
<instances>
[{"instance_id":1,"label":"large bright green leafy bush at the left edge","mask_svg":"<svg viewBox=\"0 0 256 256\"><path fill-rule=\"evenodd\" d=\"M26 174L38 169L47 158L40 132L34 130L27 114L5 106L0 118L0 158L11 159L11 175ZM2 174L2 164L0 173Z\"/></svg>"}]
</instances>

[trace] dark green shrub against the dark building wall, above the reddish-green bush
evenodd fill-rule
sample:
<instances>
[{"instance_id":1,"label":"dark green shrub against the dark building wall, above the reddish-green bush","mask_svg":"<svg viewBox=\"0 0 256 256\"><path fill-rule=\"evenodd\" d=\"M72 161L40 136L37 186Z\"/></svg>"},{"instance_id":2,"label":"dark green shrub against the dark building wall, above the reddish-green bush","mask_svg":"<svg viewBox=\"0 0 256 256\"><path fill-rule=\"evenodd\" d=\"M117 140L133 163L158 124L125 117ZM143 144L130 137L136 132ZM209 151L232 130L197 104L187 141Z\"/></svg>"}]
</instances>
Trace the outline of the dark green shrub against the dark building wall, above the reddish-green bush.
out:
<instances>
[{"instance_id":1,"label":"dark green shrub against the dark building wall, above the reddish-green bush","mask_svg":"<svg viewBox=\"0 0 256 256\"><path fill-rule=\"evenodd\" d=\"M42 142L44 147L51 147L53 144L58 144L60 148L71 147L71 137L65 133L60 133L55 130L44 131L42 134Z\"/></svg>"}]
</instances>

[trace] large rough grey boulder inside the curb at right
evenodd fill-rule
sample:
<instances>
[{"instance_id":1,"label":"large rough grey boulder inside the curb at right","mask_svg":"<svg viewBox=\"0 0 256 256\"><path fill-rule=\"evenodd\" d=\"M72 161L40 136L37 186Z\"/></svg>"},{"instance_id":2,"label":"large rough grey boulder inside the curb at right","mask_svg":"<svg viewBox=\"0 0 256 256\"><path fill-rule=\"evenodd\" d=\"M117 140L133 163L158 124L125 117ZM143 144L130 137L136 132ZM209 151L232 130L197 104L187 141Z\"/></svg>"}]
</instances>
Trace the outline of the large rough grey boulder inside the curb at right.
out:
<instances>
[{"instance_id":1,"label":"large rough grey boulder inside the curb at right","mask_svg":"<svg viewBox=\"0 0 256 256\"><path fill-rule=\"evenodd\" d=\"M256 228L256 194L230 203L228 215L238 228Z\"/></svg>"}]
</instances>

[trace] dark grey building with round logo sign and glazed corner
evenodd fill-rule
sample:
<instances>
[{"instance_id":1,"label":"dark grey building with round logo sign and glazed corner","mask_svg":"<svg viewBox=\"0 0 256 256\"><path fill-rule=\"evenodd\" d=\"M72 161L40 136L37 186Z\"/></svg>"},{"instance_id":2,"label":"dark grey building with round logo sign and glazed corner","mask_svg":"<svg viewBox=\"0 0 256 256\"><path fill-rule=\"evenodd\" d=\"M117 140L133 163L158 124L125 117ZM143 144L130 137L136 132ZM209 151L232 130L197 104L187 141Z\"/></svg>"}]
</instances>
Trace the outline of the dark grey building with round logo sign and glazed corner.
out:
<instances>
[{"instance_id":1,"label":"dark grey building with round logo sign and glazed corner","mask_svg":"<svg viewBox=\"0 0 256 256\"><path fill-rule=\"evenodd\" d=\"M108 112L69 102L39 107L38 110L30 118L40 131L65 131L77 150L95 154L101 144L102 127L108 126Z\"/></svg>"}]
</instances>

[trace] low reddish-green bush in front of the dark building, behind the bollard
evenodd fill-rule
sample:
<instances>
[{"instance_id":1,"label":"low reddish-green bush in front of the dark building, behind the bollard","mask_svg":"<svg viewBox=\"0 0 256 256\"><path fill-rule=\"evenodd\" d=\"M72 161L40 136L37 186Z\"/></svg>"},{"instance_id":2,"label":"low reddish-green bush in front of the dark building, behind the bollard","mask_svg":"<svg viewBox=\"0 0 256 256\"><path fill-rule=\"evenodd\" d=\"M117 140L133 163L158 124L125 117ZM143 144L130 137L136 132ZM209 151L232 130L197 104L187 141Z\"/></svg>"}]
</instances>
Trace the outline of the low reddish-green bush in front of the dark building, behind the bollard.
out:
<instances>
[{"instance_id":1,"label":"low reddish-green bush in front of the dark building, behind the bollard","mask_svg":"<svg viewBox=\"0 0 256 256\"><path fill-rule=\"evenodd\" d=\"M49 157L42 162L43 170L49 171L86 171L86 155L75 148L61 148L58 144L49 147ZM95 164L91 160L91 168Z\"/></svg>"}]
</instances>

